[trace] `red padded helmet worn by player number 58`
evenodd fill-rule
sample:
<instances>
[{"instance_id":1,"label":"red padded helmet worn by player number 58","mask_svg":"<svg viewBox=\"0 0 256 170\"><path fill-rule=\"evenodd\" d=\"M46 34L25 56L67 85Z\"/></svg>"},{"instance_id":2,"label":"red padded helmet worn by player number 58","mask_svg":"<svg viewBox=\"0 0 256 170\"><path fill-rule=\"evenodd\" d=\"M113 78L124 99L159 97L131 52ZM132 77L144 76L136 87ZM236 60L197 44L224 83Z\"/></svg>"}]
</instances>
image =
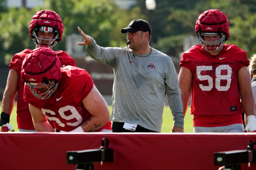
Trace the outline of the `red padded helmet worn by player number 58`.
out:
<instances>
[{"instance_id":1,"label":"red padded helmet worn by player number 58","mask_svg":"<svg viewBox=\"0 0 256 170\"><path fill-rule=\"evenodd\" d=\"M223 47L229 37L229 21L227 16L218 9L209 9L198 16L195 33L200 44L206 51L217 51ZM204 41L204 36L221 35L214 42Z\"/></svg>"}]
</instances>

